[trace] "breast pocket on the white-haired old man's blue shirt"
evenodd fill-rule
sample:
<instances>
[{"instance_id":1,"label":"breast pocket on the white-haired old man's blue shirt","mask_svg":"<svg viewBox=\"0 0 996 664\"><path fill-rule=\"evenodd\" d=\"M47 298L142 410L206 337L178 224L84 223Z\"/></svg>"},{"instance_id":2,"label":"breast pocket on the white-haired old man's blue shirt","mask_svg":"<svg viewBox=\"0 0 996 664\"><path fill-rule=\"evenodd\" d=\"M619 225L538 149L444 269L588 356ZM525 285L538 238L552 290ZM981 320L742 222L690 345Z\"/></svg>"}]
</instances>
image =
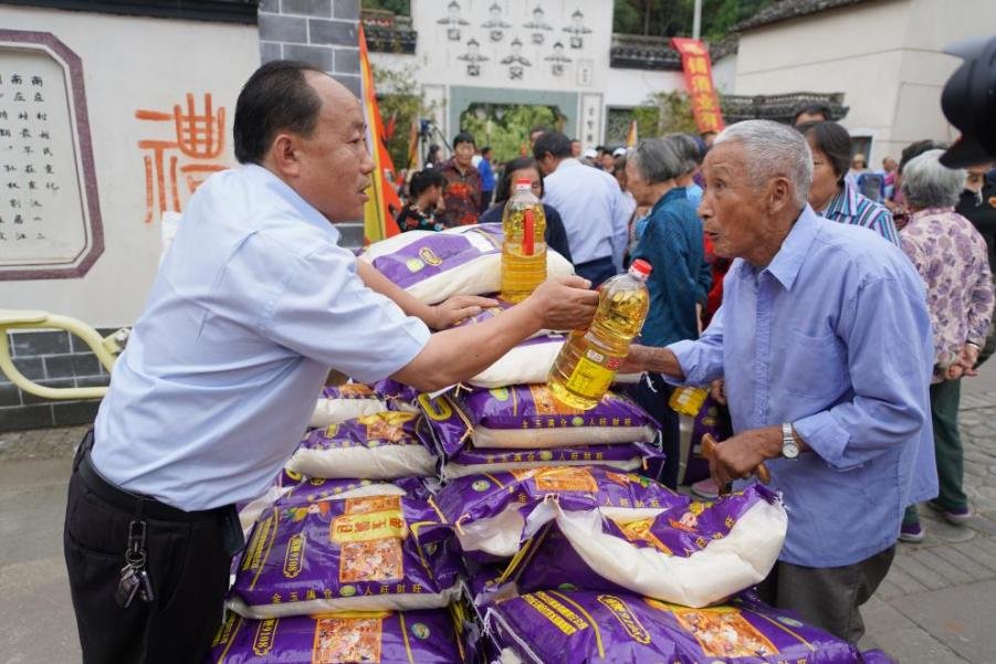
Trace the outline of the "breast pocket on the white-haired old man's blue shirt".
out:
<instances>
[{"instance_id":1,"label":"breast pocket on the white-haired old man's blue shirt","mask_svg":"<svg viewBox=\"0 0 996 664\"><path fill-rule=\"evenodd\" d=\"M837 399L847 386L847 350L837 335L804 334L788 330L783 356L785 391L795 397L827 403Z\"/></svg>"}]
</instances>

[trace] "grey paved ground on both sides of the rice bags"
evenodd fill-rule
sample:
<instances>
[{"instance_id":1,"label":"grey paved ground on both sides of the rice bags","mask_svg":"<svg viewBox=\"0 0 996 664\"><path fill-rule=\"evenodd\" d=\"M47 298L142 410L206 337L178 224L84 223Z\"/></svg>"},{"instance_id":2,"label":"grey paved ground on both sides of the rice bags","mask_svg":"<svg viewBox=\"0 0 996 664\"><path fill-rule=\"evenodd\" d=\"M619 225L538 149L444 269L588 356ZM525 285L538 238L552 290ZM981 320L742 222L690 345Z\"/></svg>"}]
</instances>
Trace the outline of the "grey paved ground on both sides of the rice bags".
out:
<instances>
[{"instance_id":1,"label":"grey paved ground on both sides of the rice bags","mask_svg":"<svg viewBox=\"0 0 996 664\"><path fill-rule=\"evenodd\" d=\"M927 509L866 605L864 647L901 664L996 664L996 361L963 383L967 527ZM80 661L62 561L70 455L83 428L0 433L0 664Z\"/></svg>"}]
</instances>

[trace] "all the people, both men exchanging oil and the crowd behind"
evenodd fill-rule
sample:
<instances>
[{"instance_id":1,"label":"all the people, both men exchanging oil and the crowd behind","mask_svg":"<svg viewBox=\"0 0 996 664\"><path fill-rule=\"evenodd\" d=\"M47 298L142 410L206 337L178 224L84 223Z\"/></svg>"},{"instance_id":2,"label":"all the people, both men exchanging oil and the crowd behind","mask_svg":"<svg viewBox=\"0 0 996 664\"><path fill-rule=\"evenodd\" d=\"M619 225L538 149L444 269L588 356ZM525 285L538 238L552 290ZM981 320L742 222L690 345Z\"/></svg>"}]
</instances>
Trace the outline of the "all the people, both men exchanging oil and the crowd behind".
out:
<instances>
[{"instance_id":1,"label":"all the people, both men exchanging oil and the crowd behind","mask_svg":"<svg viewBox=\"0 0 996 664\"><path fill-rule=\"evenodd\" d=\"M619 371L650 376L636 396L664 429L661 479L677 482L669 391L712 386L733 431L710 455L713 491L765 464L788 507L758 591L856 643L897 539L923 537L918 503L972 515L958 381L992 351L996 196L992 165L948 169L921 141L879 204L829 110L796 120L597 160L539 128L497 179L459 134L411 178L399 225L496 220L526 177L580 276L452 327L494 301L424 305L338 246L375 168L358 99L304 63L260 67L234 114L242 166L191 200L74 460L64 546L84 662L200 660L244 546L234 505L284 466L331 368L452 386L541 329L585 328L590 286L635 257L653 267L651 310Z\"/></svg>"}]
</instances>

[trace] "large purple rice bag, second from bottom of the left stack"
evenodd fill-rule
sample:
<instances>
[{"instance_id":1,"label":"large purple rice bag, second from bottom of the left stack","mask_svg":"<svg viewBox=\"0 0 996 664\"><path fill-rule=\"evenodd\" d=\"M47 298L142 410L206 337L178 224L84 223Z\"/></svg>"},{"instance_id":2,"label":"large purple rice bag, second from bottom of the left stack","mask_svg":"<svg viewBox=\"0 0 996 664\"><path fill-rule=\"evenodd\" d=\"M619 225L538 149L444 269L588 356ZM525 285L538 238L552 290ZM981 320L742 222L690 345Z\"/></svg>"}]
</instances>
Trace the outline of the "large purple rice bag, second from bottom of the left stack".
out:
<instances>
[{"instance_id":1,"label":"large purple rice bag, second from bottom of the left stack","mask_svg":"<svg viewBox=\"0 0 996 664\"><path fill-rule=\"evenodd\" d=\"M427 500L367 485L338 499L279 500L253 528L229 607L265 619L438 609L458 594L453 533ZM386 491L385 491L386 489ZM355 492L380 495L342 497Z\"/></svg>"}]
</instances>

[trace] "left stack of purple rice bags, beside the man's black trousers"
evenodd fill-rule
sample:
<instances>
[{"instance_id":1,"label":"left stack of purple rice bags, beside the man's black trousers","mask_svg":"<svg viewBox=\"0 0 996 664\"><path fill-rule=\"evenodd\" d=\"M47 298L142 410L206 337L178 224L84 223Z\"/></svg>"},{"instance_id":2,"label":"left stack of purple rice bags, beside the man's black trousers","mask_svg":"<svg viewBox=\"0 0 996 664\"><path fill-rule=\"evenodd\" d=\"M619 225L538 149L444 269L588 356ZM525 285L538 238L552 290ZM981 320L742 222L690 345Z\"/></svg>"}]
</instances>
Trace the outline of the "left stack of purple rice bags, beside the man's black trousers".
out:
<instances>
[{"instance_id":1,"label":"left stack of purple rice bags, beside the man's black trousers","mask_svg":"<svg viewBox=\"0 0 996 664\"><path fill-rule=\"evenodd\" d=\"M326 389L259 514L211 662L465 661L462 560L410 390ZM271 503L268 505L268 502Z\"/></svg>"}]
</instances>

